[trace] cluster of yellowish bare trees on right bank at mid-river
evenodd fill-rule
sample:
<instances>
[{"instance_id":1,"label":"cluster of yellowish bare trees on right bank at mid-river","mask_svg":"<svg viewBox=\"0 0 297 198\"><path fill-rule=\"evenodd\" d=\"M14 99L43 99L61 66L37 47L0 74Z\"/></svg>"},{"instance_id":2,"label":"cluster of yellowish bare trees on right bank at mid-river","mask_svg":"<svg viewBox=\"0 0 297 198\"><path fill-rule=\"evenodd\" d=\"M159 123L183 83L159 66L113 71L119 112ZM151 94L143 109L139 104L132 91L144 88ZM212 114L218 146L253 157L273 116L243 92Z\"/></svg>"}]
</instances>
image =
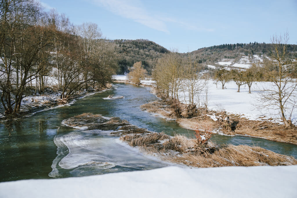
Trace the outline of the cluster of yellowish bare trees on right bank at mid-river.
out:
<instances>
[{"instance_id":1,"label":"cluster of yellowish bare trees on right bank at mid-river","mask_svg":"<svg viewBox=\"0 0 297 198\"><path fill-rule=\"evenodd\" d=\"M201 70L202 65L197 61L172 51L158 60L154 66L153 79L157 87L168 97L179 100L178 94L184 92L184 101L189 105L195 105L195 99L208 83L200 75ZM207 102L203 103L207 104Z\"/></svg>"}]
</instances>

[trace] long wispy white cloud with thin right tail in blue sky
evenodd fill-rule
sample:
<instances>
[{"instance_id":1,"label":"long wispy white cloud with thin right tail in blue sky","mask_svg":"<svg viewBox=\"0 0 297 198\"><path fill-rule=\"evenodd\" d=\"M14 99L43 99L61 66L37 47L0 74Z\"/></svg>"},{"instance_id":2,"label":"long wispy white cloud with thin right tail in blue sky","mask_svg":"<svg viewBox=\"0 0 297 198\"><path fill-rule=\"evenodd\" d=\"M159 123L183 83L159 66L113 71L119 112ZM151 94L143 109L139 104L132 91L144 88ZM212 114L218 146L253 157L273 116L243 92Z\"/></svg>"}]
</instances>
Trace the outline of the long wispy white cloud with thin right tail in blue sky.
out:
<instances>
[{"instance_id":1,"label":"long wispy white cloud with thin right tail in blue sky","mask_svg":"<svg viewBox=\"0 0 297 198\"><path fill-rule=\"evenodd\" d=\"M193 31L214 31L210 28L198 27L188 22L176 20L173 18L156 17L146 11L141 6L136 6L137 2L133 0L86 0L91 1L93 4L113 12L116 15L120 15L124 18L132 19L135 22L141 23L149 28L153 28L169 34L166 23L175 23L182 28L186 28Z\"/></svg>"}]
</instances>

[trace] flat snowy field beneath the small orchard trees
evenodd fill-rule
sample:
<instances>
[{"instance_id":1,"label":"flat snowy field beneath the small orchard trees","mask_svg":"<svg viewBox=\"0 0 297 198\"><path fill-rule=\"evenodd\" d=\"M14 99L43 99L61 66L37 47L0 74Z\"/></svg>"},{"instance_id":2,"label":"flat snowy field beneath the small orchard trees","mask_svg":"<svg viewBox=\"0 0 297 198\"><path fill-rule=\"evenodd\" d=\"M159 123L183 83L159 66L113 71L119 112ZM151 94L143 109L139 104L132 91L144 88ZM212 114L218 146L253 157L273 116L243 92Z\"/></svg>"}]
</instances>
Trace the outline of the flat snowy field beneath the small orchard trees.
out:
<instances>
[{"instance_id":1,"label":"flat snowy field beneath the small orchard trees","mask_svg":"<svg viewBox=\"0 0 297 198\"><path fill-rule=\"evenodd\" d=\"M254 105L258 103L256 90L261 90L262 87L269 86L271 84L269 82L253 83L251 94L248 93L249 88L247 85L242 85L238 93L238 87L233 81L226 83L225 89L222 89L220 82L217 83L218 88L216 88L214 81L210 81L208 84L210 86L208 94L209 109L217 111L226 110L228 113L239 114L251 120L259 120L261 116L265 116L266 118L280 118L280 115L277 115L277 110L260 110ZM203 96L203 93L201 96ZM184 99L184 97L186 97L187 100L188 94L186 93L185 96L184 93L180 91L179 99ZM194 98L194 100L194 102L198 104L198 97ZM294 124L297 124L297 111L292 113L291 120Z\"/></svg>"}]
</instances>

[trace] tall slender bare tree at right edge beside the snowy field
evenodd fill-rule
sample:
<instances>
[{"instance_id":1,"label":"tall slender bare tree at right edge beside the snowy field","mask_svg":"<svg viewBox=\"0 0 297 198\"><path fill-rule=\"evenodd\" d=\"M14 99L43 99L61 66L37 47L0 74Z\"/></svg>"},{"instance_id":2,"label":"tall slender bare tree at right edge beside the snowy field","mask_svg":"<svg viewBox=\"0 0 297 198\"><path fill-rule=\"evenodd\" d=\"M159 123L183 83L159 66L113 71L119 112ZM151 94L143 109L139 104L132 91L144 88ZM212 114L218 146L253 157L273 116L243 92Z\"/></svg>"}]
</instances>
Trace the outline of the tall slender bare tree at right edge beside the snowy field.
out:
<instances>
[{"instance_id":1,"label":"tall slender bare tree at right edge beside the snowy field","mask_svg":"<svg viewBox=\"0 0 297 198\"><path fill-rule=\"evenodd\" d=\"M290 77L288 72L292 66L292 64L287 64L288 42L288 33L280 36L274 35L271 38L270 56L273 58L272 64L275 69L271 70L271 67L267 65L262 66L263 75L271 84L264 87L258 97L258 107L277 110L286 127L292 124L290 119L297 102L297 82L296 79Z\"/></svg>"}]
</instances>

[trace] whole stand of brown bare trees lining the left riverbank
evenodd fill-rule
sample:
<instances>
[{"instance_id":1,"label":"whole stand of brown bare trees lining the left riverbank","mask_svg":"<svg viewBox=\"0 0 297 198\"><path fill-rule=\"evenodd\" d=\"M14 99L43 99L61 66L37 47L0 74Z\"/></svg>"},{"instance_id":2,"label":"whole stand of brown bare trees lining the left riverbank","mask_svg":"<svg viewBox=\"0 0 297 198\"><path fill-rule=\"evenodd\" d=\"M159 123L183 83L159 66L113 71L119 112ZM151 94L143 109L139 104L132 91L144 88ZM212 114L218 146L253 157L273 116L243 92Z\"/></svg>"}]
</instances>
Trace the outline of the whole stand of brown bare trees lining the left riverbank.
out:
<instances>
[{"instance_id":1,"label":"whole stand of brown bare trees lining the left riverbank","mask_svg":"<svg viewBox=\"0 0 297 198\"><path fill-rule=\"evenodd\" d=\"M22 99L32 90L42 93L50 79L61 98L112 82L116 47L101 35L96 24L73 26L34 0L1 0L1 113L17 115Z\"/></svg>"}]
</instances>

